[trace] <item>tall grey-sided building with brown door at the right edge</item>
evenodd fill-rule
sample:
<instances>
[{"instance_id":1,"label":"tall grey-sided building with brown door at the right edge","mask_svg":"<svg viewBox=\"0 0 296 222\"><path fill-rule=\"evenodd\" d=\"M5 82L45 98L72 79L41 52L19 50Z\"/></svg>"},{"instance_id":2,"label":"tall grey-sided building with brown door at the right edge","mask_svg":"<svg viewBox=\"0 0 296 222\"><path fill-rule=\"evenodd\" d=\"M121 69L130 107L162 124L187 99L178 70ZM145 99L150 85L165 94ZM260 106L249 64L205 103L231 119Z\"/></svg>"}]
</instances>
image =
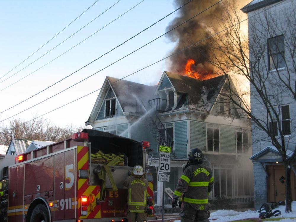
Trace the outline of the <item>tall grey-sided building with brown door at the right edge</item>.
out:
<instances>
[{"instance_id":1,"label":"tall grey-sided building with brown door at the right edge","mask_svg":"<svg viewBox=\"0 0 296 222\"><path fill-rule=\"evenodd\" d=\"M294 70L295 68L293 64L295 59L291 58L291 48L287 47L288 42L294 44L295 47L295 1L254 0L241 10L247 13L249 18L249 49L253 45L256 45L260 50L262 49L258 55L251 53L250 50L250 60L255 63L252 66L254 65L254 69L259 67L259 70L262 70L260 74L264 78L270 76L271 79L265 81L265 86L269 90L269 88L275 86L274 83L271 85L272 81L277 81L278 76L284 78L288 70L291 70L291 68ZM287 21L291 23L288 24ZM292 30L292 33L289 34L290 30ZM289 79L295 81L295 72L290 72L290 74L292 75L289 76ZM278 87L280 87L280 83ZM271 90L270 95L273 96L274 107L276 107L279 114L280 128L283 130L284 139L288 141L286 141L286 147L294 150L296 142L295 132L293 135L293 129L295 128L295 123L293 123L296 109L295 99L293 99L292 95L289 95L289 92L286 94L285 88L277 88L276 90L278 91L274 94ZM256 117L263 116L264 118L263 112L266 111L266 106L258 102L257 92L252 85L250 93L252 113ZM278 136L278 122L268 122L268 118L265 118L265 121L274 135ZM254 167L255 209L259 209L263 203L285 200L285 173L281 155L272 146L271 139L267 138L266 133L255 127L255 125L252 128L253 155L250 159L253 161ZM287 150L288 157L290 152L292 151ZM293 200L296 199L295 174L295 167L292 166L291 188Z\"/></svg>"}]
</instances>

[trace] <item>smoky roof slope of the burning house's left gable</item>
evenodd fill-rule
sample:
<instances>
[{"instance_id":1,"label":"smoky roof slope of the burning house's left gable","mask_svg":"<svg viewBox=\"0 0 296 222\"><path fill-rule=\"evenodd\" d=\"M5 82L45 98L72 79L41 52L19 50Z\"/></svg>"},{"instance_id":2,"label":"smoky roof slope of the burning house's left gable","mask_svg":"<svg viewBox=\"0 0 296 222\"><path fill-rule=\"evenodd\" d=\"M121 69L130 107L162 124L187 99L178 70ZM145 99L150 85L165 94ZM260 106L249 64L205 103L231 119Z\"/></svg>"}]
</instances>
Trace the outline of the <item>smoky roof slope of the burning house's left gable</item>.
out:
<instances>
[{"instance_id":1,"label":"smoky roof slope of the burning house's left gable","mask_svg":"<svg viewBox=\"0 0 296 222\"><path fill-rule=\"evenodd\" d=\"M136 112L137 100L142 100L144 105L147 106L147 101L155 98L153 92L157 85L147 86L127 80L119 81L118 78L110 76L107 76L107 78L123 112Z\"/></svg>"}]
</instances>

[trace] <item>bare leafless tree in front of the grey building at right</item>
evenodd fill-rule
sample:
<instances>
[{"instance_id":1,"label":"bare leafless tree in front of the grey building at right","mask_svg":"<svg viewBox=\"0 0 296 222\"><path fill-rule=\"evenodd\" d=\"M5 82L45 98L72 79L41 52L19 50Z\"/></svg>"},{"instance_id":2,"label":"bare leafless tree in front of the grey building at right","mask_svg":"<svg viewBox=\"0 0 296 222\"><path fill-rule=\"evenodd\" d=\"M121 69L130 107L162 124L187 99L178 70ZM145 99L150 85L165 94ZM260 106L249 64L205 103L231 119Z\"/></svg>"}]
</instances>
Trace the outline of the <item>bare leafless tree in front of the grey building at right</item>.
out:
<instances>
[{"instance_id":1,"label":"bare leafless tree in front of the grey building at right","mask_svg":"<svg viewBox=\"0 0 296 222\"><path fill-rule=\"evenodd\" d=\"M286 212L292 211L290 172L296 156L295 110L284 119L282 106L296 102L296 7L290 2L289 9L271 6L249 15L248 41L242 34L242 14L236 2L223 1L223 16L216 18L221 29L212 31L224 31L212 37L208 57L217 73L227 77L221 98L243 111L240 118L251 119L253 146L269 142L279 151L285 171ZM251 94L244 82L250 83Z\"/></svg>"}]
</instances>

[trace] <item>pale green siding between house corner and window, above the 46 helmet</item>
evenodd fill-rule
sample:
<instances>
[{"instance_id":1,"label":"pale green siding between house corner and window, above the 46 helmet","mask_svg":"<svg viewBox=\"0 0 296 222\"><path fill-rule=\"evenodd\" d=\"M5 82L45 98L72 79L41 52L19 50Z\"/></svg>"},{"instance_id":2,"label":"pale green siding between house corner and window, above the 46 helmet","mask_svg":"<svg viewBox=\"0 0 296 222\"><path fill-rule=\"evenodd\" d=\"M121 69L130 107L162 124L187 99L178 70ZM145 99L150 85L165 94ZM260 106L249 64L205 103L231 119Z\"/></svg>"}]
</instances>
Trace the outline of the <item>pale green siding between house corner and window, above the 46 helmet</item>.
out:
<instances>
[{"instance_id":1,"label":"pale green siding between house corner and window, above the 46 helmet","mask_svg":"<svg viewBox=\"0 0 296 222\"><path fill-rule=\"evenodd\" d=\"M207 124L190 121L190 149L207 149Z\"/></svg>"}]
</instances>

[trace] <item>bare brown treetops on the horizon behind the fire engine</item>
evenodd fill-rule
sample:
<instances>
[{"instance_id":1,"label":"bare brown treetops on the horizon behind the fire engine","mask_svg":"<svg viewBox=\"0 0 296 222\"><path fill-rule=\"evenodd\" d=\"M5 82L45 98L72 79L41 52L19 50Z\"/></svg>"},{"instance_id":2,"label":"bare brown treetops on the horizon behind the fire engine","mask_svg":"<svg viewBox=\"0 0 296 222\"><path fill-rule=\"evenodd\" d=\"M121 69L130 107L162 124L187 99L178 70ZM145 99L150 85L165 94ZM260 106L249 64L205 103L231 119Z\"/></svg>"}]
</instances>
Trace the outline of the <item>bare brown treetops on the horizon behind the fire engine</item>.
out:
<instances>
[{"instance_id":1,"label":"bare brown treetops on the horizon behind the fire engine","mask_svg":"<svg viewBox=\"0 0 296 222\"><path fill-rule=\"evenodd\" d=\"M69 139L75 132L82 131L83 127L78 126L54 126L46 118L34 118L32 121L13 119L8 125L0 128L0 144L9 145L12 138L41 140L41 141L62 141Z\"/></svg>"}]
</instances>

